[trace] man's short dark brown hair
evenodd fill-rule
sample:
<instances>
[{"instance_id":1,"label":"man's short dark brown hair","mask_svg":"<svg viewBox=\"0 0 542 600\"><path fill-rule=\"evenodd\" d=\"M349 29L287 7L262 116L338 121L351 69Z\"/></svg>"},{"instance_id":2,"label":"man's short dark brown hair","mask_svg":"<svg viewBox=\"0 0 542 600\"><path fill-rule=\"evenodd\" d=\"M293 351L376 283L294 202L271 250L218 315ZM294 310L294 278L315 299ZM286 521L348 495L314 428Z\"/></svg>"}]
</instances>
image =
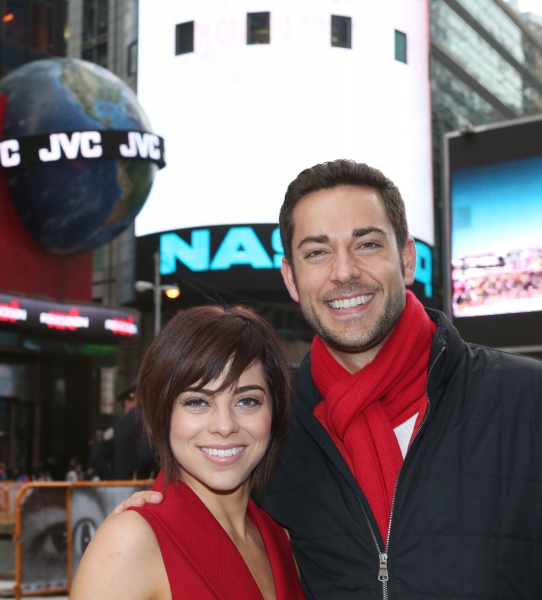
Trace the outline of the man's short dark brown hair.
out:
<instances>
[{"instance_id":1,"label":"man's short dark brown hair","mask_svg":"<svg viewBox=\"0 0 542 600\"><path fill-rule=\"evenodd\" d=\"M357 163L344 158L314 165L301 171L290 183L280 209L280 237L284 246L284 256L292 265L292 238L294 236L294 209L307 194L331 189L342 185L372 188L380 193L386 215L391 221L397 241L399 255L402 254L408 239L408 224L405 203L395 184L381 171L365 163ZM292 265L293 266L293 265Z\"/></svg>"}]
</instances>

